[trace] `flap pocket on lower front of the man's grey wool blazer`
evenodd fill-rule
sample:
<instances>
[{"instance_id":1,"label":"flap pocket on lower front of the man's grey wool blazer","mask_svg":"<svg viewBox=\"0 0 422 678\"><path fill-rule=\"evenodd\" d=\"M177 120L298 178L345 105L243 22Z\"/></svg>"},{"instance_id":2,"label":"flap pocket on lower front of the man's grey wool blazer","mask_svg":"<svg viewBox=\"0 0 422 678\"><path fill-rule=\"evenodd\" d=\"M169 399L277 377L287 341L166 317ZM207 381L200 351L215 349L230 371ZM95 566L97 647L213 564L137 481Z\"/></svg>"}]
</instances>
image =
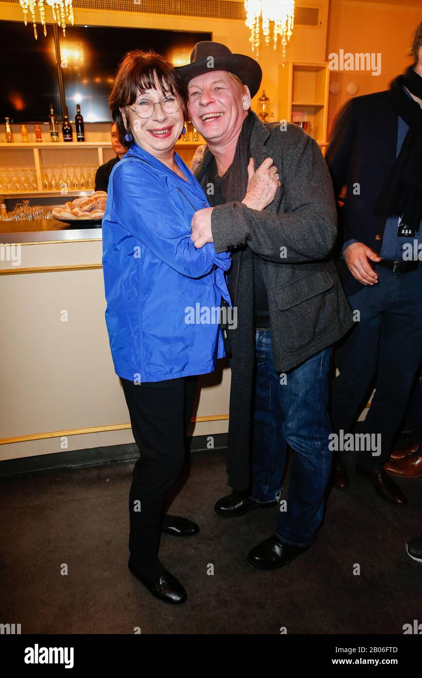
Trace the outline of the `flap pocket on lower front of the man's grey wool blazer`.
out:
<instances>
[{"instance_id":1,"label":"flap pocket on lower front of the man's grey wool blazer","mask_svg":"<svg viewBox=\"0 0 422 678\"><path fill-rule=\"evenodd\" d=\"M337 286L327 271L308 273L273 294L284 351L299 351L337 326Z\"/></svg>"}]
</instances>

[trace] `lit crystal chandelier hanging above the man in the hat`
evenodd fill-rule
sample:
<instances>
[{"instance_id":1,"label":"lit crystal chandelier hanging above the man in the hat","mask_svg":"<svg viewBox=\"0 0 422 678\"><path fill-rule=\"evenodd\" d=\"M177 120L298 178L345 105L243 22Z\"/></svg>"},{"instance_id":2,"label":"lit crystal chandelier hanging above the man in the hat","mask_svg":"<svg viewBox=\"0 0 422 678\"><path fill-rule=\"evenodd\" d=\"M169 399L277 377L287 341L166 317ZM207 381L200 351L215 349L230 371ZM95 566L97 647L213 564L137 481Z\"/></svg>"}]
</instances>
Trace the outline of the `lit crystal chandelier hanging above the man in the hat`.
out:
<instances>
[{"instance_id":1,"label":"lit crystal chandelier hanging above the man in the hat","mask_svg":"<svg viewBox=\"0 0 422 678\"><path fill-rule=\"evenodd\" d=\"M252 52L255 59L259 57L259 17L261 18L261 30L265 37L266 46L270 44L270 21L274 23L273 43L277 46L277 39L281 37L282 58L286 56L286 45L293 33L293 19L295 17L295 0L245 0L246 21L245 24L251 29L249 42L252 43Z\"/></svg>"}]
</instances>

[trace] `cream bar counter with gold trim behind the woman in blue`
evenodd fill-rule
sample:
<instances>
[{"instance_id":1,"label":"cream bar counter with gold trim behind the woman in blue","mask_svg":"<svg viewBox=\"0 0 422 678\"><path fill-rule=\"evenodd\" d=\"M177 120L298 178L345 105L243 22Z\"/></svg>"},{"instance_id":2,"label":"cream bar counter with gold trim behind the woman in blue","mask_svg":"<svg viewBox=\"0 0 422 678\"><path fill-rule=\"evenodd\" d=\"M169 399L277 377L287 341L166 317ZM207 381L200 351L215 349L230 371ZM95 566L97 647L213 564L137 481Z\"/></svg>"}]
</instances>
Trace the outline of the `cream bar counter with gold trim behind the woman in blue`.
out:
<instances>
[{"instance_id":1,"label":"cream bar counter with gold trim behind the woman in blue","mask_svg":"<svg viewBox=\"0 0 422 678\"><path fill-rule=\"evenodd\" d=\"M104 319L101 224L0 222L0 308L0 460L133 443ZM229 391L220 360L201 377L190 435L227 432Z\"/></svg>"}]
</instances>

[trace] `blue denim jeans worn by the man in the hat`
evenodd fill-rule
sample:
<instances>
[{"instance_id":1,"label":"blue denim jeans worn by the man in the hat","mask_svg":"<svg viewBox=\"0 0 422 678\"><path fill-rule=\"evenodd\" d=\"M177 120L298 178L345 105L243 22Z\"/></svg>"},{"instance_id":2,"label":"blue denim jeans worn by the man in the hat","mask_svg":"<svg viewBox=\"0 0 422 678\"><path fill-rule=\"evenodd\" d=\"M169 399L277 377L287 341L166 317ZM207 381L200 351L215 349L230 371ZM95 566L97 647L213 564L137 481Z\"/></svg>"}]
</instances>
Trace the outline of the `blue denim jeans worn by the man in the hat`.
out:
<instances>
[{"instance_id":1,"label":"blue denim jeans worn by the man in the hat","mask_svg":"<svg viewBox=\"0 0 422 678\"><path fill-rule=\"evenodd\" d=\"M327 412L331 348L283 377L274 370L270 330L255 332L251 499L265 504L280 498L289 445L293 450L289 499L287 511L278 512L276 536L287 544L310 546L322 522L333 455Z\"/></svg>"}]
</instances>

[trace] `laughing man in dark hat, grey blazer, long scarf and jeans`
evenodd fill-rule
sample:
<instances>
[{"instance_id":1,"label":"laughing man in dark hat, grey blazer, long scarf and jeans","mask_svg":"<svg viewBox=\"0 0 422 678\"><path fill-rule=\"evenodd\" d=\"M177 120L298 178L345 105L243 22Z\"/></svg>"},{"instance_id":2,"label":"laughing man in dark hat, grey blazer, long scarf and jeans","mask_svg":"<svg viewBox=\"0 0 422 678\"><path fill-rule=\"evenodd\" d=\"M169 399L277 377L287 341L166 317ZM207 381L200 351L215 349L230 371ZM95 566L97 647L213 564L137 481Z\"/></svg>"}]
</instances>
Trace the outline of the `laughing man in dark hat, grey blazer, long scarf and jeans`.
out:
<instances>
[{"instance_id":1,"label":"laughing man in dark hat, grey blazer, long scarf and jeans","mask_svg":"<svg viewBox=\"0 0 422 678\"><path fill-rule=\"evenodd\" d=\"M330 258L333 188L308 134L289 123L264 125L250 110L261 83L257 62L201 42L177 70L188 83L192 123L207 140L196 178L213 205L194 214L192 241L232 252L228 287L238 310L236 328L226 330L234 492L215 511L234 517L276 505L289 445L289 500L280 502L276 533L248 556L253 567L274 569L316 539L331 470L330 347L353 324Z\"/></svg>"}]
</instances>

